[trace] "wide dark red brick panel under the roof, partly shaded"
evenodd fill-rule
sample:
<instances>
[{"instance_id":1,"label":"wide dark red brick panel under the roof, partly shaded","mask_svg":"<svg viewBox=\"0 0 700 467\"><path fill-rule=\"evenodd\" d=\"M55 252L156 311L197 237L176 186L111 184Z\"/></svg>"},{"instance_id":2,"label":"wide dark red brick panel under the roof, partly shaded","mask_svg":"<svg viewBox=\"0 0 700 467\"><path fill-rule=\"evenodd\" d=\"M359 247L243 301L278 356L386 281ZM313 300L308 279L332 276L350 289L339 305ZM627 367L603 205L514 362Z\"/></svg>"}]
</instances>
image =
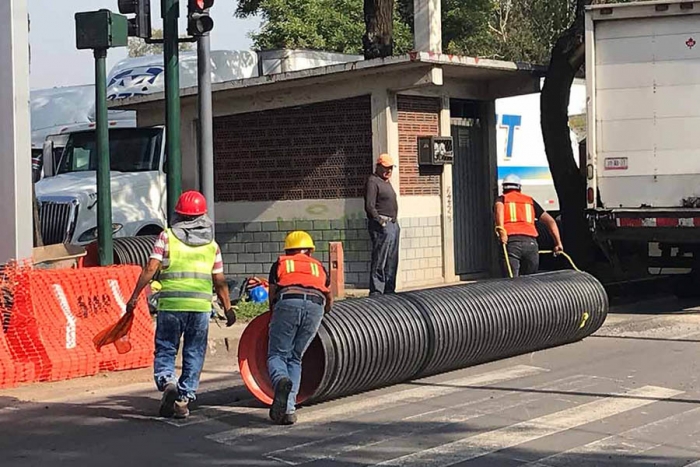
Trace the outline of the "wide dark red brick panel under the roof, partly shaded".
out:
<instances>
[{"instance_id":1,"label":"wide dark red brick panel under the roof, partly shaded","mask_svg":"<svg viewBox=\"0 0 700 467\"><path fill-rule=\"evenodd\" d=\"M369 96L214 119L216 201L361 198Z\"/></svg>"}]
</instances>

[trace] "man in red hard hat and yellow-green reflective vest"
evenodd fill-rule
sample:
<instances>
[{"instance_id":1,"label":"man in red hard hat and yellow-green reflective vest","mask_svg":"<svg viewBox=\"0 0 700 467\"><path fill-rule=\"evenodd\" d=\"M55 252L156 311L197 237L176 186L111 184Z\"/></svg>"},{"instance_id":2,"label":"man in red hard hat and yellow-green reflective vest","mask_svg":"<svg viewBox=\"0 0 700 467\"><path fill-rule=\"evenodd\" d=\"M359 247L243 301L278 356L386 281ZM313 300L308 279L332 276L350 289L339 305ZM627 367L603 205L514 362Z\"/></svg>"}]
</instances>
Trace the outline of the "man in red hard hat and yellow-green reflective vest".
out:
<instances>
[{"instance_id":1,"label":"man in red hard hat and yellow-green reflective vest","mask_svg":"<svg viewBox=\"0 0 700 467\"><path fill-rule=\"evenodd\" d=\"M163 231L148 265L141 273L126 306L133 313L141 291L161 271L158 298L154 379L163 392L162 417L185 418L188 404L195 399L204 366L212 310L212 288L224 307L227 325L236 321L224 276L221 250L207 216L207 202L201 193L187 191L175 207L172 226ZM175 357L180 340L182 374L175 374Z\"/></svg>"}]
</instances>

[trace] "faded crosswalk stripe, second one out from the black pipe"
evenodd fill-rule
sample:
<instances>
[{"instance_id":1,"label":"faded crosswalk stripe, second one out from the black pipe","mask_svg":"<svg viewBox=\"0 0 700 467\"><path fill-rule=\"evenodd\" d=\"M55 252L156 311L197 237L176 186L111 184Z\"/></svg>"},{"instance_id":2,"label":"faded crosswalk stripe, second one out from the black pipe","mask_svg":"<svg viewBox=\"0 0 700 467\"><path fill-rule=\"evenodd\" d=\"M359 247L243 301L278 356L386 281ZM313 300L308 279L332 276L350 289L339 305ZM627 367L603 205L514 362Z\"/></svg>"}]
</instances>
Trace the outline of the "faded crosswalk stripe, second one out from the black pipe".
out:
<instances>
[{"instance_id":1,"label":"faded crosswalk stripe, second one out from the black pipe","mask_svg":"<svg viewBox=\"0 0 700 467\"><path fill-rule=\"evenodd\" d=\"M517 389L497 396L487 396L483 399L456 404L450 407L442 407L401 419L402 421L420 420L423 425L419 428L416 428L415 425L396 423L394 421L378 423L371 428L346 432L337 436L304 444L297 444L286 449L266 453L265 456L288 465L301 465L321 459L336 459L344 454L367 449L384 442L396 442L401 438L407 438L424 432L435 432L451 424L460 424L474 418L493 415L516 407L521 407L536 400L550 397L551 395L548 394L550 391L582 391L583 389L595 386L599 383L600 380L598 378L585 375L567 377L530 387L528 389L534 390L535 392L522 394L514 402L505 402L501 399L517 394ZM456 410L470 407L475 408L469 409L467 412L455 413ZM358 434L363 437L362 441L357 442L352 440L351 437ZM340 445L337 443L334 444L333 441L335 440L340 440ZM326 446L321 446L316 450L313 449L315 446L323 444L326 444Z\"/></svg>"}]
</instances>

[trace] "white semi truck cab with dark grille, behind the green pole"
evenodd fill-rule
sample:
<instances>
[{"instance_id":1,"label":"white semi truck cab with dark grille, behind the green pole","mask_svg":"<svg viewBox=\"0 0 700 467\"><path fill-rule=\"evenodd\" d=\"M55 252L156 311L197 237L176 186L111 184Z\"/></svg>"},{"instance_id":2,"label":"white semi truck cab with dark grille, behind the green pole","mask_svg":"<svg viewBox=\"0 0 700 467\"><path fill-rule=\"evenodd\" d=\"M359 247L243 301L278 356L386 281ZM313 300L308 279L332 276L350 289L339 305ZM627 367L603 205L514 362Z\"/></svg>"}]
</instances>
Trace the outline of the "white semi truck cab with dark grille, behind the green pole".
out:
<instances>
[{"instance_id":1,"label":"white semi truck cab with dark grille, behind the green pole","mask_svg":"<svg viewBox=\"0 0 700 467\"><path fill-rule=\"evenodd\" d=\"M159 233L166 225L162 127L109 130L112 229L115 237ZM44 244L97 239L97 145L94 130L70 133L60 159L44 148L46 177L35 185ZM55 168L55 173L52 173Z\"/></svg>"}]
</instances>

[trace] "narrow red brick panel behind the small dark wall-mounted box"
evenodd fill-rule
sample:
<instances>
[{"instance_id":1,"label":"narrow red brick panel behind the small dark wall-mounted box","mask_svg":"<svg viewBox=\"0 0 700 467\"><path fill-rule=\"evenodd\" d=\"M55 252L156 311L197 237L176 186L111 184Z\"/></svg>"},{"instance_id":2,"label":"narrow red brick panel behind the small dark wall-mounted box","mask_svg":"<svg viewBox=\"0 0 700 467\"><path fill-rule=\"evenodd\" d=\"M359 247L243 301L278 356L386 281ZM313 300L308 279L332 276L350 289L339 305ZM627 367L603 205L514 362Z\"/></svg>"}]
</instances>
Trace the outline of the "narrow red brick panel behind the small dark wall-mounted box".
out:
<instances>
[{"instance_id":1,"label":"narrow red brick panel behind the small dark wall-mounted box","mask_svg":"<svg viewBox=\"0 0 700 467\"><path fill-rule=\"evenodd\" d=\"M440 195L440 167L418 167L418 136L440 134L440 100L397 96L401 195Z\"/></svg>"}]
</instances>

